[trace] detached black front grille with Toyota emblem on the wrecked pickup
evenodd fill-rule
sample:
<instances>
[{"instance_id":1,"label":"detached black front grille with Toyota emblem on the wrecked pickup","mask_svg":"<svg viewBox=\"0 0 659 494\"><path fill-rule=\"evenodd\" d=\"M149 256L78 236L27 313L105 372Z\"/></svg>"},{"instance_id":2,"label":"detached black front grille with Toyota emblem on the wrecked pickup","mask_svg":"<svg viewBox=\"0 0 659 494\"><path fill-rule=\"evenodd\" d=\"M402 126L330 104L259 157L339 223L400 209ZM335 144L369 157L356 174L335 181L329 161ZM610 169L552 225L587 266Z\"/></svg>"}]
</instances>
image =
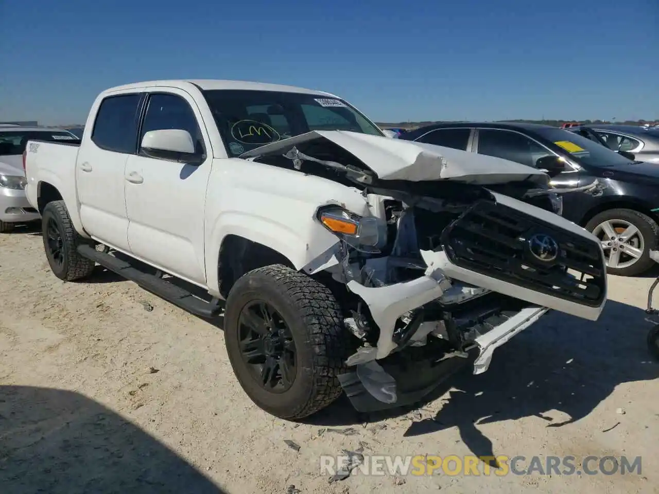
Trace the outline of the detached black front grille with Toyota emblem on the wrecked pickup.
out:
<instances>
[{"instance_id":1,"label":"detached black front grille with Toyota emblem on the wrecked pickup","mask_svg":"<svg viewBox=\"0 0 659 494\"><path fill-rule=\"evenodd\" d=\"M476 202L444 229L442 245L455 265L536 292L594 307L606 296L606 267L596 241L502 204Z\"/></svg>"}]
</instances>

